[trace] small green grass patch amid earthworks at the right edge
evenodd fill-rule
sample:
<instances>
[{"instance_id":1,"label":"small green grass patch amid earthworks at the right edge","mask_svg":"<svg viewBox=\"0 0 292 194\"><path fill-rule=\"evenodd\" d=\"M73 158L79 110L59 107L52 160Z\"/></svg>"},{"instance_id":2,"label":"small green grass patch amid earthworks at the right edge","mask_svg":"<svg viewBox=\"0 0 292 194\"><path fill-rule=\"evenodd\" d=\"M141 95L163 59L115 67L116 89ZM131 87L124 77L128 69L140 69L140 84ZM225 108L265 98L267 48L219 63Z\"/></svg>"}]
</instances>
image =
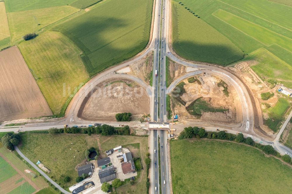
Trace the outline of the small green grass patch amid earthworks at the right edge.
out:
<instances>
[{"instance_id":1,"label":"small green grass patch amid earthworks at the right edge","mask_svg":"<svg viewBox=\"0 0 292 194\"><path fill-rule=\"evenodd\" d=\"M284 120L284 115L290 106L291 103L288 102L288 100L279 98L278 102L273 107L267 109L269 118L264 121L264 124L274 132L279 130L281 122Z\"/></svg>"}]
</instances>

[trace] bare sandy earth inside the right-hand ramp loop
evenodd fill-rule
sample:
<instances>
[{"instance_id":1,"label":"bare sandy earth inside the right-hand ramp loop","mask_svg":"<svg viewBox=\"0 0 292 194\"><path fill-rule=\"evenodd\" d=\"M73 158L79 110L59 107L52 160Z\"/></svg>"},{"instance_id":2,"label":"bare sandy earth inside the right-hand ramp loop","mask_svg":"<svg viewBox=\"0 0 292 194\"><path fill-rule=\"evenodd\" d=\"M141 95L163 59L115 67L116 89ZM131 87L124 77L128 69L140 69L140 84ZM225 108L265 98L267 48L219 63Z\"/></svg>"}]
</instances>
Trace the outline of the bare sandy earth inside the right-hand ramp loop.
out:
<instances>
[{"instance_id":1,"label":"bare sandy earth inside the right-hand ramp loop","mask_svg":"<svg viewBox=\"0 0 292 194\"><path fill-rule=\"evenodd\" d=\"M189 83L191 80L196 81ZM228 124L242 122L241 103L233 86L225 83L224 87L227 88L226 92L224 91L224 87L218 86L221 78L208 74L196 76L191 80L183 80L185 82L184 89L186 92L180 98L186 102L185 106L176 102L175 99L171 99L173 112L180 115L179 121L187 122L188 120L198 119L189 114L186 107L197 98L203 97L202 100L206 101L210 106L228 109L228 111L203 112L200 118L201 121Z\"/></svg>"}]
</instances>

